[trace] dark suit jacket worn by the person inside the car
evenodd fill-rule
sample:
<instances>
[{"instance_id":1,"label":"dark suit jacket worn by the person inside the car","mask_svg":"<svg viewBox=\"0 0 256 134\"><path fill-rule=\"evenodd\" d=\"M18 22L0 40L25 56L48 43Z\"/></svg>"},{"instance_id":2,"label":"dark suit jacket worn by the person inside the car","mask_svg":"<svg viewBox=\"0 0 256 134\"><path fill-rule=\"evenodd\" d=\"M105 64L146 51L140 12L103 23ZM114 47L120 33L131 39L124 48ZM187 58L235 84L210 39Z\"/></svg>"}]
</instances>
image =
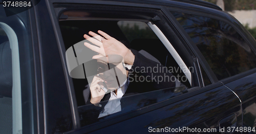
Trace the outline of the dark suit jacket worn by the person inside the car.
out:
<instances>
[{"instance_id":1,"label":"dark suit jacket worn by the person inside the car","mask_svg":"<svg viewBox=\"0 0 256 134\"><path fill-rule=\"evenodd\" d=\"M132 66L132 68L129 70L129 86L126 89L125 94L122 96L120 102L121 102L121 108L124 108L125 101L123 101L123 97L125 96L130 96L134 94L139 94L139 93L144 93L144 92L150 92L150 91L155 91L159 89L165 89L165 88L172 88L175 87L176 84L175 82L170 82L170 81L162 81L158 82L157 78L158 76L166 76L168 75L169 77L172 77L173 74L169 72L160 72L159 68L162 68L163 65L156 61L152 61L146 57L144 57L141 53L139 53L137 50L131 49L133 54L135 55L135 61ZM154 68L155 70L158 68L158 71L152 72L150 70L145 71L147 67ZM143 70L144 69L144 70ZM144 78L147 77L147 81L142 81L143 79L139 79L139 76L143 76ZM137 81L136 81L137 79ZM148 82L150 81L150 82ZM87 90L87 94L90 94L90 89ZM106 103L108 103L108 100L110 99L110 93L105 94L104 97L101 99L101 107L100 106L95 106L90 102L90 96L85 97L86 101L86 106L83 106L83 109L80 109L79 113L82 113L82 117L86 120L83 120L81 122L81 125L87 125L91 124L94 122L97 122L98 116L100 112L104 109L104 106ZM126 100L127 101L127 100ZM103 117L104 118L104 117Z\"/></svg>"}]
</instances>

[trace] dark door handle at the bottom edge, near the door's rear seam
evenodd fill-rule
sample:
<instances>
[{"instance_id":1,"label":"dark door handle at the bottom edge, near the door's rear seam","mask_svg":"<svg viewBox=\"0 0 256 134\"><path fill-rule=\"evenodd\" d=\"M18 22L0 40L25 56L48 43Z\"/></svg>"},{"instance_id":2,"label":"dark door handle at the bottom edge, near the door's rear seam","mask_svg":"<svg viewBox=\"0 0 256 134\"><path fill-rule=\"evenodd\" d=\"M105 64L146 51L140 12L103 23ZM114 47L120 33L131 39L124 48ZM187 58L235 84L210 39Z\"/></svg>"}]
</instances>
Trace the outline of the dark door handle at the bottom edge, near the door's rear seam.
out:
<instances>
[{"instance_id":1,"label":"dark door handle at the bottom edge, near the door's rear seam","mask_svg":"<svg viewBox=\"0 0 256 134\"><path fill-rule=\"evenodd\" d=\"M237 127L237 115L236 114L231 114L229 116L226 116L219 121L219 127L220 129L224 128L224 132L221 132L222 134L224 133L234 133L234 131L228 132L228 127L232 130L232 127Z\"/></svg>"}]
</instances>

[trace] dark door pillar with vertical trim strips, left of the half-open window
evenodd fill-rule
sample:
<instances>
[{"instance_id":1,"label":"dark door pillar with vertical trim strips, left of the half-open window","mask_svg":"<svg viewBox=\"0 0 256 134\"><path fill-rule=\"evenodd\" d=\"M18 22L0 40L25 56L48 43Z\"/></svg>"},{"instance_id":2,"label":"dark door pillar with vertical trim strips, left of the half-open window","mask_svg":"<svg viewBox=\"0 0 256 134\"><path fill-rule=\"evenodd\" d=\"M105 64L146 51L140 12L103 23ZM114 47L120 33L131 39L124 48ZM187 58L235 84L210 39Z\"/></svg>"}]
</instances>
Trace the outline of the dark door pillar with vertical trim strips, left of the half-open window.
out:
<instances>
[{"instance_id":1,"label":"dark door pillar with vertical trim strips, left of the half-open window","mask_svg":"<svg viewBox=\"0 0 256 134\"><path fill-rule=\"evenodd\" d=\"M73 121L72 119L69 120L68 117L69 114L71 115L70 105L61 106L62 104L65 105L65 103L70 104L70 100L65 97L57 98L58 93L60 96L68 96L68 90L65 76L62 76L64 74L61 72L62 64L59 55L59 47L56 45L57 37L53 32L54 26L51 23L47 3L46 1L40 1L33 4L35 4L34 7L28 9L28 11L30 13L35 68L35 90L32 93L33 109L35 111L30 115L32 116L31 118L33 118L30 124L31 127L30 129L25 129L25 132L33 130L35 133L48 133L52 132L52 128L56 126L56 124L53 123L57 121L57 117L54 116L54 114L61 116L63 113L66 113L67 116L63 118L67 119L71 127L73 127ZM56 67L58 70L56 71L56 68L54 68L54 71L50 66ZM62 92L57 92L57 90L61 90ZM49 95L53 96L49 97ZM65 112L61 113L58 106ZM54 118L52 118L53 116ZM61 119L59 118L59 120ZM28 122L28 120L25 121Z\"/></svg>"}]
</instances>

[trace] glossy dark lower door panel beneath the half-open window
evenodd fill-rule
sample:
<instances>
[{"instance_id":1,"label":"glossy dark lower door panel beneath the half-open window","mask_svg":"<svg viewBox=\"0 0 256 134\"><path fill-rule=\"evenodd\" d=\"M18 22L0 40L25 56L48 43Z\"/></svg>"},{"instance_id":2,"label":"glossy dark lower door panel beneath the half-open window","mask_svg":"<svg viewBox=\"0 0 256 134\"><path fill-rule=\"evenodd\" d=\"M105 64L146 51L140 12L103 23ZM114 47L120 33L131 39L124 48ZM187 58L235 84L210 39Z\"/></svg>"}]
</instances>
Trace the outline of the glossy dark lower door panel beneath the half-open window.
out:
<instances>
[{"instance_id":1,"label":"glossy dark lower door panel beneath the half-open window","mask_svg":"<svg viewBox=\"0 0 256 134\"><path fill-rule=\"evenodd\" d=\"M221 84L219 83L218 85ZM201 90L205 89L210 88L205 87ZM175 102L178 98L181 98L181 100ZM189 96L186 99L182 98L184 98L184 95L171 98L167 101L170 103L173 102L172 104L110 126L109 124L112 124L112 120L101 122L99 124L108 127L99 130L95 128L101 125L96 123L89 127L78 129L77 131L71 131L70 133L86 133L92 130L95 130L92 133L103 133L104 131L111 130L115 130L117 133L146 133L148 132L148 127L189 127L201 128L202 130L203 128L218 128L217 130L219 130L218 121L229 114L235 114L237 126L242 126L240 101L236 95L224 86ZM151 107L154 107L154 105L150 105L146 109L150 109Z\"/></svg>"}]
</instances>

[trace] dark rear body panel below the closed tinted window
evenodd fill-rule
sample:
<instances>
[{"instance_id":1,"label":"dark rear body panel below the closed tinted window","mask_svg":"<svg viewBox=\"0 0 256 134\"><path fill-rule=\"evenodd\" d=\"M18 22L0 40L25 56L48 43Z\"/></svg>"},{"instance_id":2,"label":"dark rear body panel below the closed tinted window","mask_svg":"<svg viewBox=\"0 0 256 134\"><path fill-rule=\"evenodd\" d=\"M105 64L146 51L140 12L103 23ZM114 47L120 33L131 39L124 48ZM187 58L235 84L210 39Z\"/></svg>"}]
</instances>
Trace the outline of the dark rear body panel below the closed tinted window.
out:
<instances>
[{"instance_id":1,"label":"dark rear body panel below the closed tinted window","mask_svg":"<svg viewBox=\"0 0 256 134\"><path fill-rule=\"evenodd\" d=\"M255 69L238 76L223 79L223 84L236 93L242 101L243 130L255 131Z\"/></svg>"}]
</instances>

